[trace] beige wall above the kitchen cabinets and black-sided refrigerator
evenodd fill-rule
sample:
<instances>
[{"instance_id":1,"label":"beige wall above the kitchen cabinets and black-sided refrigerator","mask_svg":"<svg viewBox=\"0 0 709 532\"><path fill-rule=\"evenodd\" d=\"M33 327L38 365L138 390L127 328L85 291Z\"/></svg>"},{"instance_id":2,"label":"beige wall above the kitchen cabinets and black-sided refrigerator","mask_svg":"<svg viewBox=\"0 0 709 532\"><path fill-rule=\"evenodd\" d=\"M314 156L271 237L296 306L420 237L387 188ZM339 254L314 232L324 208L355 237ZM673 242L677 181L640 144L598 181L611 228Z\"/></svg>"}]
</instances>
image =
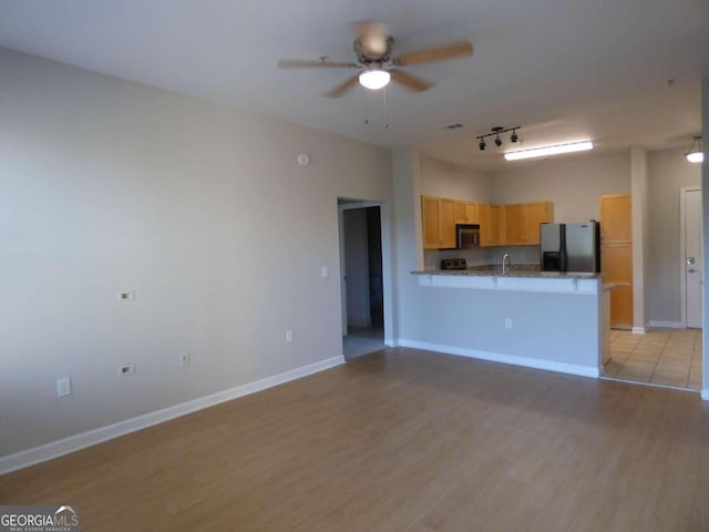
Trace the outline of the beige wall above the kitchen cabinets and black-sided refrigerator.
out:
<instances>
[{"instance_id":1,"label":"beige wall above the kitchen cabinets and black-sided refrigerator","mask_svg":"<svg viewBox=\"0 0 709 532\"><path fill-rule=\"evenodd\" d=\"M600 217L600 196L630 192L629 153L568 155L492 174L494 203L554 203L555 222Z\"/></svg>"}]
</instances>

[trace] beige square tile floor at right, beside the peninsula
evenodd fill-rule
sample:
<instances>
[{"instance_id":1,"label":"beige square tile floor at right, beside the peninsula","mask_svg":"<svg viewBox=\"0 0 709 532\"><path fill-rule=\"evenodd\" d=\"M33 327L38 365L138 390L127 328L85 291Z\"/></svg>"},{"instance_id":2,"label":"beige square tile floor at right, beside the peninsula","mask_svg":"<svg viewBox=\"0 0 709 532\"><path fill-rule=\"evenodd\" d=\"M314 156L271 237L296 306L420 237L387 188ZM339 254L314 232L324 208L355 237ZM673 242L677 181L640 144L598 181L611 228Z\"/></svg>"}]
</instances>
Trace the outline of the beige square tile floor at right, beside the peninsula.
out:
<instances>
[{"instance_id":1,"label":"beige square tile floor at right, beside the peninsula","mask_svg":"<svg viewBox=\"0 0 709 532\"><path fill-rule=\"evenodd\" d=\"M646 335L610 331L604 377L701 389L701 329L651 329Z\"/></svg>"}]
</instances>

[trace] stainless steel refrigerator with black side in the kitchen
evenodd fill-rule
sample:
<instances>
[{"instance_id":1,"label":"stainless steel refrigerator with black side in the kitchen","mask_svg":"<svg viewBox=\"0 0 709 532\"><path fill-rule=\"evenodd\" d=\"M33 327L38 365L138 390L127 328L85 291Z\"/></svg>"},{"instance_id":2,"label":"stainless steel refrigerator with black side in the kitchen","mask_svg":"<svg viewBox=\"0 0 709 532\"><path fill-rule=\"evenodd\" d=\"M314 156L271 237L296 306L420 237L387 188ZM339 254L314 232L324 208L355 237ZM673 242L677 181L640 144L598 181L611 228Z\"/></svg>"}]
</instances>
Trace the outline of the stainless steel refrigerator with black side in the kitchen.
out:
<instances>
[{"instance_id":1,"label":"stainless steel refrigerator with black side in the kitchen","mask_svg":"<svg viewBox=\"0 0 709 532\"><path fill-rule=\"evenodd\" d=\"M598 222L542 224L540 231L543 272L600 273Z\"/></svg>"}]
</instances>

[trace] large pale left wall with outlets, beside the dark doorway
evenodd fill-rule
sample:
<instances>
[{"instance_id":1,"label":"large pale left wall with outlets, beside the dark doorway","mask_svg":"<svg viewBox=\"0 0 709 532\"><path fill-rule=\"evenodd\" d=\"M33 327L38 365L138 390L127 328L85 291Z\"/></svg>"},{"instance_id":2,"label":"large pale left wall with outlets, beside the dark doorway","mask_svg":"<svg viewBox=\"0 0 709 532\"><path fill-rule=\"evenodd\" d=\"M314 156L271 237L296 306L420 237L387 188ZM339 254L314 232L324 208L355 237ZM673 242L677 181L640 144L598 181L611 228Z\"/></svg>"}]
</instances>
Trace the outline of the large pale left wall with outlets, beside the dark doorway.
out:
<instances>
[{"instance_id":1,"label":"large pale left wall with outlets, beside the dark doorway","mask_svg":"<svg viewBox=\"0 0 709 532\"><path fill-rule=\"evenodd\" d=\"M391 200L388 150L10 51L0 72L0 456L341 355L320 268L338 196Z\"/></svg>"}]
</instances>

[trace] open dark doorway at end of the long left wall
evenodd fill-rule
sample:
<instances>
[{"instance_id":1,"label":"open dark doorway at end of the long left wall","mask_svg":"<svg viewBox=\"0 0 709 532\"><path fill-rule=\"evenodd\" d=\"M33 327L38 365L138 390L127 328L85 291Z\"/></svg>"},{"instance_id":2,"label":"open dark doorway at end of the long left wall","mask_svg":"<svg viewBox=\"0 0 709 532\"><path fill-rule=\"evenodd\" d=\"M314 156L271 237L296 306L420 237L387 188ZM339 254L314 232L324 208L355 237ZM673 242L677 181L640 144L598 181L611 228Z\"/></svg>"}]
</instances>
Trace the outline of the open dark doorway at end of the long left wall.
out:
<instances>
[{"instance_id":1,"label":"open dark doorway at end of the long left wall","mask_svg":"<svg viewBox=\"0 0 709 532\"><path fill-rule=\"evenodd\" d=\"M387 282L382 242L386 206L338 200L342 298L342 352L346 359L386 347Z\"/></svg>"}]
</instances>

